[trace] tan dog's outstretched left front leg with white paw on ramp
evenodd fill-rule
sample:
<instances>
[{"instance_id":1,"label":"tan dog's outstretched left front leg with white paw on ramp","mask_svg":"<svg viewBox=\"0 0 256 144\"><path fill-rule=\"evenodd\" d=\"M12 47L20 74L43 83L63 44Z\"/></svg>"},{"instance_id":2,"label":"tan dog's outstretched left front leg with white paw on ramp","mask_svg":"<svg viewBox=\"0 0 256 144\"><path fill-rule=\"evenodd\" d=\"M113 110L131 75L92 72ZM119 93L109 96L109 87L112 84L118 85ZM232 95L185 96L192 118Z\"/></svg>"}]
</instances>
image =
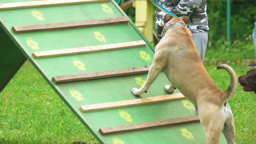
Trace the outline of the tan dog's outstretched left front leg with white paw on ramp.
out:
<instances>
[{"instance_id":1,"label":"tan dog's outstretched left front leg with white paw on ramp","mask_svg":"<svg viewBox=\"0 0 256 144\"><path fill-rule=\"evenodd\" d=\"M132 88L131 89L132 94L138 96L144 92L147 92L150 85L155 81L158 74L162 71L165 65L166 65L166 60L164 59L164 57L162 57L162 54L155 53L155 58L153 60L152 65L149 68L148 76L145 83L142 85L142 87L140 87L140 89L137 89L135 87Z\"/></svg>"}]
</instances>

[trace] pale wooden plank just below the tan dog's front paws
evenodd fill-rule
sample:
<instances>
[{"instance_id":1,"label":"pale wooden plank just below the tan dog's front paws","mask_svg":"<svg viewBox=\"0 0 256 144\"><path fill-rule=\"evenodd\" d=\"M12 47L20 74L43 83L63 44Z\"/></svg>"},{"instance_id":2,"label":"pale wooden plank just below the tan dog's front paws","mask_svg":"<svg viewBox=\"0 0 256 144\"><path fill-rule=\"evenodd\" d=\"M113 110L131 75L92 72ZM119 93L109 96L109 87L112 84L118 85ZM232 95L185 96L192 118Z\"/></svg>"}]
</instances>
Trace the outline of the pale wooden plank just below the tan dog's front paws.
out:
<instances>
[{"instance_id":1,"label":"pale wooden plank just below the tan dog's front paws","mask_svg":"<svg viewBox=\"0 0 256 144\"><path fill-rule=\"evenodd\" d=\"M87 111L105 110L105 109L111 109L111 108L146 105L149 103L164 102L164 101L170 101L170 100L179 100L179 99L184 99L184 98L185 97L181 93L174 93L174 94L168 94L168 95L160 95L157 97L149 97L149 98L85 105L85 106L79 107L79 109L83 112L87 112Z\"/></svg>"}]
</instances>

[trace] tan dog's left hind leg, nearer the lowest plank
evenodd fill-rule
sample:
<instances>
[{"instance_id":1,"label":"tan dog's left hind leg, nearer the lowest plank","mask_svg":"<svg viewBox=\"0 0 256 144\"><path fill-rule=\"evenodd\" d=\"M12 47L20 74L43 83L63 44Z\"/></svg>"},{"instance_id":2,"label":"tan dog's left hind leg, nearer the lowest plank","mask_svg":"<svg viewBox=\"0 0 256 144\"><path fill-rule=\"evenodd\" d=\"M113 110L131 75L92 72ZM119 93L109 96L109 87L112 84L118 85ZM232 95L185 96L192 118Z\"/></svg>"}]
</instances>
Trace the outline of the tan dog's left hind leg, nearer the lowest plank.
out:
<instances>
[{"instance_id":1,"label":"tan dog's left hind leg, nearer the lowest plank","mask_svg":"<svg viewBox=\"0 0 256 144\"><path fill-rule=\"evenodd\" d=\"M204 103L198 105L199 119L204 126L208 144L219 144L220 133L225 123L225 115L217 105Z\"/></svg>"}]
</instances>

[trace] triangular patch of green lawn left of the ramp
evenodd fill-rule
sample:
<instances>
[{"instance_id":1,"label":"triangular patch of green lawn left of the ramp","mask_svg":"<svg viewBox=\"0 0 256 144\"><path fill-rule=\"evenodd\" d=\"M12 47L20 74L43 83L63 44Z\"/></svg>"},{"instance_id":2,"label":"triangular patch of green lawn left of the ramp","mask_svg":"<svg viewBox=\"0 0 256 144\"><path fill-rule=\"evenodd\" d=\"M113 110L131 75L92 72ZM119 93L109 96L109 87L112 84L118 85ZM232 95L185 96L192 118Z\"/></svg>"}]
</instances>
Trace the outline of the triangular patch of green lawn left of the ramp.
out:
<instances>
[{"instance_id":1,"label":"triangular patch of green lawn left of the ramp","mask_svg":"<svg viewBox=\"0 0 256 144\"><path fill-rule=\"evenodd\" d=\"M29 63L0 93L0 143L97 143Z\"/></svg>"}]
</instances>

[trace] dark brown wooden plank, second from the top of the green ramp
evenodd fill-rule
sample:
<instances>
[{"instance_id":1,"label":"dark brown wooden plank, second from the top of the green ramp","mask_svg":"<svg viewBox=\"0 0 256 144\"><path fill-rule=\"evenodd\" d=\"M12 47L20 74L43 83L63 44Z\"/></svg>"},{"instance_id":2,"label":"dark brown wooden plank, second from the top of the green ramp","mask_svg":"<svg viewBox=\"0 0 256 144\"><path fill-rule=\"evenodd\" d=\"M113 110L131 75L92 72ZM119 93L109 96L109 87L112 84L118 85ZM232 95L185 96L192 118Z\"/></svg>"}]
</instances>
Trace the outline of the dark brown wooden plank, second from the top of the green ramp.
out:
<instances>
[{"instance_id":1,"label":"dark brown wooden plank, second from the top of the green ramp","mask_svg":"<svg viewBox=\"0 0 256 144\"><path fill-rule=\"evenodd\" d=\"M83 27L95 27L128 23L127 17L115 17L95 20L83 20L83 21L68 21L58 23L45 23L39 25L27 25L27 26L13 26L14 33L28 33L33 31L46 31L46 30L60 30L71 28L83 28Z\"/></svg>"}]
</instances>

